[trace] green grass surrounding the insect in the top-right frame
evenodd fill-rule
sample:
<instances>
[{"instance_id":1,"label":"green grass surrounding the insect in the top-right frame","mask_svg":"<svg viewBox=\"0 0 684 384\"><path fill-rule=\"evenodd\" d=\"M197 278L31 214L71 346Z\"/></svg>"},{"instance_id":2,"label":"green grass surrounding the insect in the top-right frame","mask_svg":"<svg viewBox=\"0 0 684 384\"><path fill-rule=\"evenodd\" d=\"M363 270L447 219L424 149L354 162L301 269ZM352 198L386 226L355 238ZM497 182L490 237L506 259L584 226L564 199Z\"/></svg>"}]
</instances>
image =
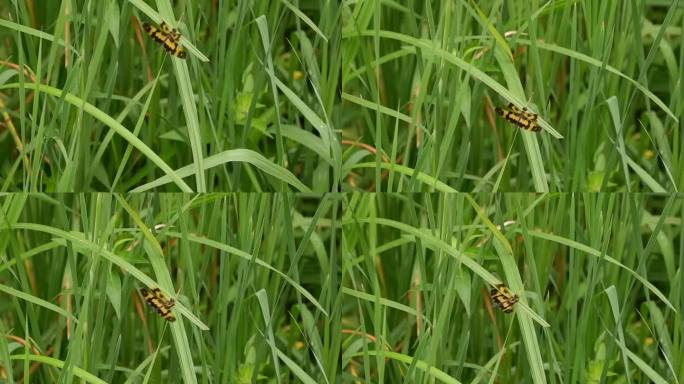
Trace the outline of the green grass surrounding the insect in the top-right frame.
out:
<instances>
[{"instance_id":1,"label":"green grass surrounding the insect in the top-right frame","mask_svg":"<svg viewBox=\"0 0 684 384\"><path fill-rule=\"evenodd\" d=\"M681 1L347 1L343 14L350 188L681 190ZM508 103L542 131L499 118Z\"/></svg>"}]
</instances>

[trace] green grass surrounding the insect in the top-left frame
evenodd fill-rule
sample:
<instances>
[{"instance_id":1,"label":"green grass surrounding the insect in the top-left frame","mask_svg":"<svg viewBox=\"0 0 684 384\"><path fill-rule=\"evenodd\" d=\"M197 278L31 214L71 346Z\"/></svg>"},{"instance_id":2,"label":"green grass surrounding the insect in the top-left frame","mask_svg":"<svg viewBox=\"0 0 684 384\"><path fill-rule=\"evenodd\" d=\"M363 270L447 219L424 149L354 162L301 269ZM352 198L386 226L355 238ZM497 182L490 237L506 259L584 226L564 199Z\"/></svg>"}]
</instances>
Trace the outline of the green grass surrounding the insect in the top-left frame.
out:
<instances>
[{"instance_id":1,"label":"green grass surrounding the insect in the top-left frame","mask_svg":"<svg viewBox=\"0 0 684 384\"><path fill-rule=\"evenodd\" d=\"M339 12L311 0L3 3L0 190L336 190ZM142 30L162 21L185 60Z\"/></svg>"}]
</instances>

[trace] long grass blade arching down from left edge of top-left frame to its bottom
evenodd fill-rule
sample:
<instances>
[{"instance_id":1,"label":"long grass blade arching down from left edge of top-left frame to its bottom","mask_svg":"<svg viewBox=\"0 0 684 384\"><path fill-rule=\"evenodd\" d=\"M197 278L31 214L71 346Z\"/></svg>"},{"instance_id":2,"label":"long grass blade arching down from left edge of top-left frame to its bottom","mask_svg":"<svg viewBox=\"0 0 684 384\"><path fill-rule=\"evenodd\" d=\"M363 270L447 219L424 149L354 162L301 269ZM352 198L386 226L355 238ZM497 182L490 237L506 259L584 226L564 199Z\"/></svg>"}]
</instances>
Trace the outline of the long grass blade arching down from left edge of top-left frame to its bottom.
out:
<instances>
[{"instance_id":1,"label":"long grass blade arching down from left edge of top-left frame to its bottom","mask_svg":"<svg viewBox=\"0 0 684 384\"><path fill-rule=\"evenodd\" d=\"M133 147L135 147L137 150L139 150L143 155L145 155L147 158L149 158L155 165L157 165L168 177L169 181L172 181L174 184L180 188L181 191L183 192L192 192L192 188L190 188L174 171L171 169L171 167L164 162L164 160L161 159L150 147L145 145L140 139L135 137L130 131L126 129L123 125L121 125L118 121L114 120L112 117L107 115L104 111L100 110L96 106L82 100L76 95L73 95L68 92L63 92L61 89L51 87L49 85L44 85L44 84L36 84L36 88L40 90L43 93L47 93L49 95L55 96L55 97L62 97L64 101L68 102L71 105L74 105L76 107L83 108L83 111L90 114L93 116L95 119L99 120L102 122L104 125L107 127L113 129L116 133L119 134L119 136L123 137L126 141L128 141ZM18 83L12 83L12 84L5 84L3 86L0 86L0 89L8 89L8 88L19 88Z\"/></svg>"}]
</instances>

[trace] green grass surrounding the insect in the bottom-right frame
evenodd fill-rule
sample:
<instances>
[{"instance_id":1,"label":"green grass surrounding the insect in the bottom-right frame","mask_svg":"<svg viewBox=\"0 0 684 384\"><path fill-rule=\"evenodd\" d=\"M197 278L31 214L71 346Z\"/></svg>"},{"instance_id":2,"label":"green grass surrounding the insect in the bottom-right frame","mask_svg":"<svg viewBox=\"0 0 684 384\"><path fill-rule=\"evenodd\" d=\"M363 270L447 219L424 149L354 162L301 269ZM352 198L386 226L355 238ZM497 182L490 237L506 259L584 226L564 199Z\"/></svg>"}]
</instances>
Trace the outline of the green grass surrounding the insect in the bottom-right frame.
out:
<instances>
[{"instance_id":1,"label":"green grass surrounding the insect in the bottom-right frame","mask_svg":"<svg viewBox=\"0 0 684 384\"><path fill-rule=\"evenodd\" d=\"M356 195L346 382L679 382L683 209L681 195ZM512 314L489 298L502 282Z\"/></svg>"}]
</instances>

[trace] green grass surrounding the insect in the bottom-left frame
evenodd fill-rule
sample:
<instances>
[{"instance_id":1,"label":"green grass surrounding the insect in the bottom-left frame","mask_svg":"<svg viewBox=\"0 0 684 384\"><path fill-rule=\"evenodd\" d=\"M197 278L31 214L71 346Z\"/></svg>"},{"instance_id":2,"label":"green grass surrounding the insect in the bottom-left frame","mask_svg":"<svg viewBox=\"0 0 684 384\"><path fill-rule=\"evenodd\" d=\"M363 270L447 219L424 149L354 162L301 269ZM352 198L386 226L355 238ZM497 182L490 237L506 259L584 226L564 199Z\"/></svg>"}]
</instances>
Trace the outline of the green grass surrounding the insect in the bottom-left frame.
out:
<instances>
[{"instance_id":1,"label":"green grass surrounding the insect in the bottom-left frame","mask_svg":"<svg viewBox=\"0 0 684 384\"><path fill-rule=\"evenodd\" d=\"M339 205L288 194L0 197L0 377L335 382ZM143 287L175 299L175 322L145 305Z\"/></svg>"}]
</instances>

